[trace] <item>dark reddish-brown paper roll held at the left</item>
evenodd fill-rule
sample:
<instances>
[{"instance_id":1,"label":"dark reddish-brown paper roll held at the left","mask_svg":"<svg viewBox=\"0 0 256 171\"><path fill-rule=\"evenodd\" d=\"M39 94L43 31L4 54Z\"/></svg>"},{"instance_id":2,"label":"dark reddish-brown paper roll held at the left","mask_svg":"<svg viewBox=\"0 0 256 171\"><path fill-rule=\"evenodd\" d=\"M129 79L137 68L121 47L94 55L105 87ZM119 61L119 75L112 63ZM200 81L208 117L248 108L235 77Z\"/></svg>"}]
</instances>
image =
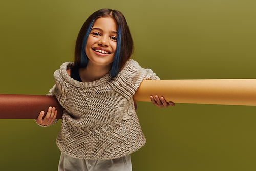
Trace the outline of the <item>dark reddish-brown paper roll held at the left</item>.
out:
<instances>
[{"instance_id":1,"label":"dark reddish-brown paper roll held at the left","mask_svg":"<svg viewBox=\"0 0 256 171\"><path fill-rule=\"evenodd\" d=\"M0 119L36 119L41 111L45 117L49 106L56 108L56 119L61 119L63 108L55 96L0 94Z\"/></svg>"}]
</instances>

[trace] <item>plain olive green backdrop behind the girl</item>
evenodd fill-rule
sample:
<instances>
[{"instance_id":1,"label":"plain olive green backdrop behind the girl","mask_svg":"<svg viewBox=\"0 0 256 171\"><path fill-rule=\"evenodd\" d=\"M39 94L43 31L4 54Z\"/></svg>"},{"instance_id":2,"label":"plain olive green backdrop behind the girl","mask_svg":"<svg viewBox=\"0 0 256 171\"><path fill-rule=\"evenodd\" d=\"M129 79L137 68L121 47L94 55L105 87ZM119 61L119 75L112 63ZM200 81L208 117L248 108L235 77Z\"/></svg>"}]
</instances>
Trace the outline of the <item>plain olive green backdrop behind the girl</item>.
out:
<instances>
[{"instance_id":1,"label":"plain olive green backdrop behind the girl","mask_svg":"<svg viewBox=\"0 0 256 171\"><path fill-rule=\"evenodd\" d=\"M53 72L72 61L84 20L101 8L120 10L135 42L133 59L161 79L255 78L256 1L0 2L2 94L45 95ZM255 170L254 106L138 102L147 143L133 170ZM0 170L57 170L60 121L0 120Z\"/></svg>"}]
</instances>

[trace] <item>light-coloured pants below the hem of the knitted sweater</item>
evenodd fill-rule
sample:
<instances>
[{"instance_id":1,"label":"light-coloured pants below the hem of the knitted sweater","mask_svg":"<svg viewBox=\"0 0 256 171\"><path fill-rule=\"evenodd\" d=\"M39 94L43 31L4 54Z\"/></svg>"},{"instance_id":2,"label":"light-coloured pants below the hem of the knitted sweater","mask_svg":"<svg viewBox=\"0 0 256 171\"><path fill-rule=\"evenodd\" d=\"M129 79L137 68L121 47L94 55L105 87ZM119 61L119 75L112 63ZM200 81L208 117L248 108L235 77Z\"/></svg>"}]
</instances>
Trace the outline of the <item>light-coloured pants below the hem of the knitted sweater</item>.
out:
<instances>
[{"instance_id":1,"label":"light-coloured pants below the hem of the knitted sweater","mask_svg":"<svg viewBox=\"0 0 256 171\"><path fill-rule=\"evenodd\" d=\"M111 160L76 159L61 152L58 171L132 171L131 156Z\"/></svg>"}]
</instances>

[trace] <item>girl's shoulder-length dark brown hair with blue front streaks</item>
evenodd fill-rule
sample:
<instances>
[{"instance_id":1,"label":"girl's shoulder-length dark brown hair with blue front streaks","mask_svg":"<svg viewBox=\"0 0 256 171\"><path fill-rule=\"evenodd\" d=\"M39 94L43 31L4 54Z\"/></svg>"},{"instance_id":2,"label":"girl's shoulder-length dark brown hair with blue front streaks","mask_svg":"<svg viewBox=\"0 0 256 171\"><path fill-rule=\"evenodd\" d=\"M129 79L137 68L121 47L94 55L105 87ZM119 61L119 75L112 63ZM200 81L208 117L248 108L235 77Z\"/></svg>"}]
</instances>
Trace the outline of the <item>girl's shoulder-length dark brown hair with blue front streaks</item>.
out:
<instances>
[{"instance_id":1,"label":"girl's shoulder-length dark brown hair with blue front streaks","mask_svg":"<svg viewBox=\"0 0 256 171\"><path fill-rule=\"evenodd\" d=\"M111 76L115 77L122 70L125 63L130 59L134 50L132 35L126 19L120 11L106 8L100 9L87 18L77 36L74 63L78 67L87 66L88 57L85 53L87 38L94 22L100 17L111 17L117 24L117 47L110 70Z\"/></svg>"}]
</instances>

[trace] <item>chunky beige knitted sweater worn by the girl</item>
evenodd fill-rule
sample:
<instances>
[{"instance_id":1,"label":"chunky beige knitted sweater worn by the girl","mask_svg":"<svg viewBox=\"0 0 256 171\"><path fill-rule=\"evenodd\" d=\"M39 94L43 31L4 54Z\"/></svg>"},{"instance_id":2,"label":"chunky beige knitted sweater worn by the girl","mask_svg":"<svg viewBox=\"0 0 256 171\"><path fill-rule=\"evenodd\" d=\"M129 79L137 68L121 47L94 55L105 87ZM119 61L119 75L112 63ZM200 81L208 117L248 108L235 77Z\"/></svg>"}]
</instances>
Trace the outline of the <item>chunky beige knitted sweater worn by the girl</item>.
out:
<instances>
[{"instance_id":1,"label":"chunky beige knitted sweater worn by the girl","mask_svg":"<svg viewBox=\"0 0 256 171\"><path fill-rule=\"evenodd\" d=\"M146 140L133 95L143 80L159 77L130 59L114 78L108 73L93 82L79 82L66 71L73 65L63 63L54 72L56 84L50 90L65 109L56 139L59 149L74 158L106 160L141 148Z\"/></svg>"}]
</instances>

